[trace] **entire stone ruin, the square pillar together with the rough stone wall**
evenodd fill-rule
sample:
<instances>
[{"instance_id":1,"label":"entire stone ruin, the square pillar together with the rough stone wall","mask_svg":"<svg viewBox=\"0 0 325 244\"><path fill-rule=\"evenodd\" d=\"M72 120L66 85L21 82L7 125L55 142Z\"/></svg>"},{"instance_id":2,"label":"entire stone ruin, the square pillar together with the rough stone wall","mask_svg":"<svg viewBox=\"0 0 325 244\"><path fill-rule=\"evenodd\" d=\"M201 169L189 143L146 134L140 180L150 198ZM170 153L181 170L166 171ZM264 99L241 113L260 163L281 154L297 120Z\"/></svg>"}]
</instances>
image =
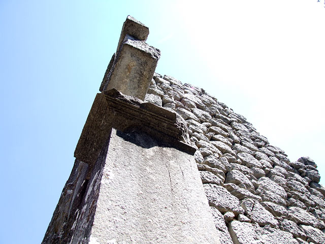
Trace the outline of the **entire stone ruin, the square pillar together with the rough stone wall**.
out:
<instances>
[{"instance_id":1,"label":"entire stone ruin, the square pillar together with the rough stone wall","mask_svg":"<svg viewBox=\"0 0 325 244\"><path fill-rule=\"evenodd\" d=\"M128 16L42 243L325 243L325 188L205 90L154 73Z\"/></svg>"}]
</instances>

